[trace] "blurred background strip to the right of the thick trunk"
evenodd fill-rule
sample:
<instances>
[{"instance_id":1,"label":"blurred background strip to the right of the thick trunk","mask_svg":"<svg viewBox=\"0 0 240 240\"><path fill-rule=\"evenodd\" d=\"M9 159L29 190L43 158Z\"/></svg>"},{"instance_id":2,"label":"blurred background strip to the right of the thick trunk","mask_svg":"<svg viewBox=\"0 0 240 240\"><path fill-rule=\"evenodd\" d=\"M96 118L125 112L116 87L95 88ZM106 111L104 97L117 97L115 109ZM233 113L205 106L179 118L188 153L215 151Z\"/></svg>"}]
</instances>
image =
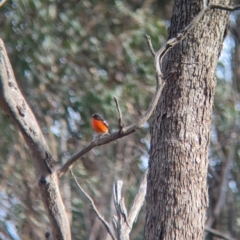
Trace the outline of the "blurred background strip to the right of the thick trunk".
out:
<instances>
[{"instance_id":1,"label":"blurred background strip to the right of the thick trunk","mask_svg":"<svg viewBox=\"0 0 240 240\"><path fill-rule=\"evenodd\" d=\"M236 1L239 4L239 1ZM229 34L216 71L209 151L207 228L238 239L239 228L239 12L233 13ZM207 234L207 239L214 235Z\"/></svg>"}]
</instances>

